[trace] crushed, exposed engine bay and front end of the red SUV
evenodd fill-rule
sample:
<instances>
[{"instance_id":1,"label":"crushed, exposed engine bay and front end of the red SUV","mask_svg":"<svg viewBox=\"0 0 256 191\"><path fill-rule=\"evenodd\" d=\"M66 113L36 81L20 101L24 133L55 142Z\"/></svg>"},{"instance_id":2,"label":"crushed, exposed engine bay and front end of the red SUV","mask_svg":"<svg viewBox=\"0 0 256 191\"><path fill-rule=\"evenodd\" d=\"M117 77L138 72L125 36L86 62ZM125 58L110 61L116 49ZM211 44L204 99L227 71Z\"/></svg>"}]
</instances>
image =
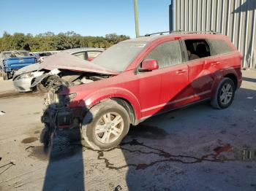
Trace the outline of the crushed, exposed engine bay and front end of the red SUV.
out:
<instances>
[{"instance_id":1,"label":"crushed, exposed engine bay and front end of the red SUV","mask_svg":"<svg viewBox=\"0 0 256 191\"><path fill-rule=\"evenodd\" d=\"M77 95L70 93L60 95L59 92L63 88L91 83L100 79L111 77L110 74L96 74L90 72L55 70L45 73L37 78L33 83L34 87L45 88L48 93L45 94L44 114L41 118L45 123L44 133L40 140L44 144L49 144L50 135L59 128L78 128L86 114L85 107L68 109L66 106Z\"/></svg>"}]
</instances>

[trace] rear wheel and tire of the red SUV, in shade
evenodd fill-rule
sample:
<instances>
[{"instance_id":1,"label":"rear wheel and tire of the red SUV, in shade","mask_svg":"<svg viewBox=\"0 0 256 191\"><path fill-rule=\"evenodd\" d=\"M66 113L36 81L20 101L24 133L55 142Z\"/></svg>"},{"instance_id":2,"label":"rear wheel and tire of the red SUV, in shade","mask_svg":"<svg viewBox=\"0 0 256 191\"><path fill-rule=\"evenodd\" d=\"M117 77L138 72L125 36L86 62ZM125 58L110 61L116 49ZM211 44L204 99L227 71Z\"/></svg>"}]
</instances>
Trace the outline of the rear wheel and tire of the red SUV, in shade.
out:
<instances>
[{"instance_id":1,"label":"rear wheel and tire of the red SUV, in shade","mask_svg":"<svg viewBox=\"0 0 256 191\"><path fill-rule=\"evenodd\" d=\"M217 87L214 98L211 100L211 106L217 109L229 107L234 99L236 87L232 79L223 78Z\"/></svg>"}]
</instances>

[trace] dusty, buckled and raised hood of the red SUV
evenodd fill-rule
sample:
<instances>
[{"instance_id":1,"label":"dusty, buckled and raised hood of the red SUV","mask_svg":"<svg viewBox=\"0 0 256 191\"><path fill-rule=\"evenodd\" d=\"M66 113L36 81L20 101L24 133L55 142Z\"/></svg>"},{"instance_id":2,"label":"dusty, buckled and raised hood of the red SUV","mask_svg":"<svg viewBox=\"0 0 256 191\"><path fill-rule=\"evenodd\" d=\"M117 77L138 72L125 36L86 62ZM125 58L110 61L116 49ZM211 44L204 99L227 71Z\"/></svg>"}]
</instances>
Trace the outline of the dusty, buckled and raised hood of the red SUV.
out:
<instances>
[{"instance_id":1,"label":"dusty, buckled and raised hood of the red SUV","mask_svg":"<svg viewBox=\"0 0 256 191\"><path fill-rule=\"evenodd\" d=\"M68 69L72 71L89 71L100 74L118 74L118 71L112 71L105 69L102 66L97 66L96 64L85 61L75 55L70 55L67 52L59 52L56 55L51 55L45 61L43 61L40 69Z\"/></svg>"}]
</instances>

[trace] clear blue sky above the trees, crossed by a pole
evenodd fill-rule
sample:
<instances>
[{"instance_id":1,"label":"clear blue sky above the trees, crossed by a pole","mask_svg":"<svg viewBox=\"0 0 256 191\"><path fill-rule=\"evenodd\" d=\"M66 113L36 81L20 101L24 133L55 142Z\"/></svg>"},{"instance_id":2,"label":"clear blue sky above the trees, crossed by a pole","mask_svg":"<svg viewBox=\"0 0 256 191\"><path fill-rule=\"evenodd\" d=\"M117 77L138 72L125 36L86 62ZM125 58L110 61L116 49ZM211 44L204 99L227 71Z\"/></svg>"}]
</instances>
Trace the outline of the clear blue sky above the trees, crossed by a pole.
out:
<instances>
[{"instance_id":1,"label":"clear blue sky above the trees, crossed by a pole","mask_svg":"<svg viewBox=\"0 0 256 191\"><path fill-rule=\"evenodd\" d=\"M170 0L138 0L140 35L168 31ZM1 2L0 36L75 31L135 37L133 0L8 0Z\"/></svg>"}]
</instances>

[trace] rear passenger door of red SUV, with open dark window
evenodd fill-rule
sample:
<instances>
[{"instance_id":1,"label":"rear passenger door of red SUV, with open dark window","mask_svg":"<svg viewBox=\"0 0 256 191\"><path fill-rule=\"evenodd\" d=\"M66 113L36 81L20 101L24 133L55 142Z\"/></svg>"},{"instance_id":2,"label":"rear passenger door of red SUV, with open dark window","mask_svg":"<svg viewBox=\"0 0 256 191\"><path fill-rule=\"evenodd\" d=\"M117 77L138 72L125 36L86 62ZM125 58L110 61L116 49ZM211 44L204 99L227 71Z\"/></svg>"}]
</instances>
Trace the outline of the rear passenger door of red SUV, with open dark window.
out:
<instances>
[{"instance_id":1,"label":"rear passenger door of red SUV, with open dark window","mask_svg":"<svg viewBox=\"0 0 256 191\"><path fill-rule=\"evenodd\" d=\"M206 39L184 39L184 46L187 48L189 92L193 94L189 101L200 101L211 96L219 57L211 56Z\"/></svg>"}]
</instances>

